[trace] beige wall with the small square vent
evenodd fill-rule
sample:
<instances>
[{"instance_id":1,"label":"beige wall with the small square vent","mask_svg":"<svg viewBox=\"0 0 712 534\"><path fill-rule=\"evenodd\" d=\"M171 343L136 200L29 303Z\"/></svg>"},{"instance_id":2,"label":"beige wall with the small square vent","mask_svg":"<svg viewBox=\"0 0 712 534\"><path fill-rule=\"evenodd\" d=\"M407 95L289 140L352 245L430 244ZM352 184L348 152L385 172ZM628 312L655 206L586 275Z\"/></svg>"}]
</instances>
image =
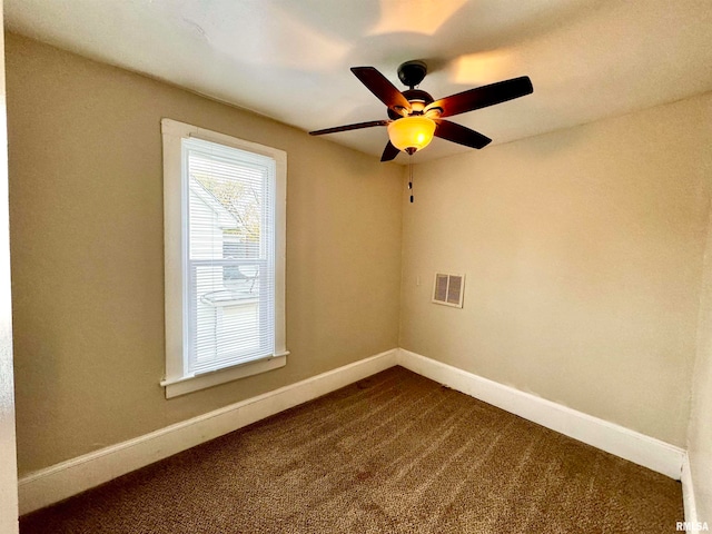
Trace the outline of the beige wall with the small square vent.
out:
<instances>
[{"instance_id":1,"label":"beige wall with the small square vent","mask_svg":"<svg viewBox=\"0 0 712 534\"><path fill-rule=\"evenodd\" d=\"M418 166L400 346L684 446L711 101ZM464 309L431 304L437 269Z\"/></svg>"}]
</instances>

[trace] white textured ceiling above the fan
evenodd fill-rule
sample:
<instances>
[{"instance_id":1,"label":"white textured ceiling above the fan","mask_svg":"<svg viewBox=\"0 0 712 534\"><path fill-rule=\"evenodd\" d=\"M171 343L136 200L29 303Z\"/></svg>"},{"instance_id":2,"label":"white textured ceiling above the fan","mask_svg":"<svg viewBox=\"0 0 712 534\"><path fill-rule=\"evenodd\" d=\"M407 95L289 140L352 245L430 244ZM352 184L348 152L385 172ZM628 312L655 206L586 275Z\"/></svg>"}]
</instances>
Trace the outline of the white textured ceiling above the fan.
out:
<instances>
[{"instance_id":1,"label":"white textured ceiling above the fan","mask_svg":"<svg viewBox=\"0 0 712 534\"><path fill-rule=\"evenodd\" d=\"M305 131L385 119L349 67L405 89L396 69L411 59L428 63L421 89L436 99L531 77L533 95L452 118L494 144L712 90L712 0L4 0L4 17ZM387 132L328 138L379 157ZM415 157L465 150L435 139Z\"/></svg>"}]
</instances>

